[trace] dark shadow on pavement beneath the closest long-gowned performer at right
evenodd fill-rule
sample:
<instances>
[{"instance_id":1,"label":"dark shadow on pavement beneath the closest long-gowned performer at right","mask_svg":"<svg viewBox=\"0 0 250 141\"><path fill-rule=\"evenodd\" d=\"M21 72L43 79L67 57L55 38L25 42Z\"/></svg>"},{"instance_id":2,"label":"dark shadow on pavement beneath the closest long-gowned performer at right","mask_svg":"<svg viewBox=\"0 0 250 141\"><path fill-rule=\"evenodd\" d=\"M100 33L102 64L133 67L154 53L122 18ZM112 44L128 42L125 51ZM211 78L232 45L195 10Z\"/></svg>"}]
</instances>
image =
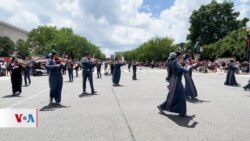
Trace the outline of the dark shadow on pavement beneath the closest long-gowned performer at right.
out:
<instances>
[{"instance_id":1,"label":"dark shadow on pavement beneath the closest long-gowned performer at right","mask_svg":"<svg viewBox=\"0 0 250 141\"><path fill-rule=\"evenodd\" d=\"M177 125L186 127L186 128L195 128L198 122L193 121L194 115L191 117L180 117L179 115L169 115L169 114L162 114L168 117L170 120L175 122Z\"/></svg>"}]
</instances>

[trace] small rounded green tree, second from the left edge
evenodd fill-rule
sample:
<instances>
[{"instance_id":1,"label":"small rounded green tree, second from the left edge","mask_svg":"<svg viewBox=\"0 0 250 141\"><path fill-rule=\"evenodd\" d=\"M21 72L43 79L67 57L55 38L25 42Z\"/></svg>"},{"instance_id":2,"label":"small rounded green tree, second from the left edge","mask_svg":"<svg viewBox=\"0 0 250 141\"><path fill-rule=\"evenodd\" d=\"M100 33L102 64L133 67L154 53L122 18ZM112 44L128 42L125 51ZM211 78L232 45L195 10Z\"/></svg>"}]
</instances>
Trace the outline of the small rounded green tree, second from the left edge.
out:
<instances>
[{"instance_id":1,"label":"small rounded green tree, second from the left edge","mask_svg":"<svg viewBox=\"0 0 250 141\"><path fill-rule=\"evenodd\" d=\"M17 52L17 57L25 59L25 57L29 57L29 46L26 41L19 39L16 42L16 52Z\"/></svg>"}]
</instances>

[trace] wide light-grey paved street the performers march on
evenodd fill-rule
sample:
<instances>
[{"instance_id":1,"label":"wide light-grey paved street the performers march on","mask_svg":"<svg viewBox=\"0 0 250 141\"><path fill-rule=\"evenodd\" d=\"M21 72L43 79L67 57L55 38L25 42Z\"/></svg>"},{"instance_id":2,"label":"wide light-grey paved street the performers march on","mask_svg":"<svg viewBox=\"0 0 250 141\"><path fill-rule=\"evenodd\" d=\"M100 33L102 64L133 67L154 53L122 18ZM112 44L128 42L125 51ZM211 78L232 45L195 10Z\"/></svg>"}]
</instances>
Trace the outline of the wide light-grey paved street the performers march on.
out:
<instances>
[{"instance_id":1,"label":"wide light-grey paved street the performers march on","mask_svg":"<svg viewBox=\"0 0 250 141\"><path fill-rule=\"evenodd\" d=\"M102 76L98 95L79 97L82 78L64 76L62 106L49 103L48 77L32 77L20 97L11 97L9 77L0 78L0 108L39 109L38 128L0 129L0 141L249 141L250 92L224 86L224 74L194 73L199 102L187 102L193 119L159 114L166 99L166 70L143 68L138 80L123 67L121 87ZM81 76L81 75L80 75ZM248 76L236 76L245 85ZM87 91L90 92L87 83Z\"/></svg>"}]
</instances>

